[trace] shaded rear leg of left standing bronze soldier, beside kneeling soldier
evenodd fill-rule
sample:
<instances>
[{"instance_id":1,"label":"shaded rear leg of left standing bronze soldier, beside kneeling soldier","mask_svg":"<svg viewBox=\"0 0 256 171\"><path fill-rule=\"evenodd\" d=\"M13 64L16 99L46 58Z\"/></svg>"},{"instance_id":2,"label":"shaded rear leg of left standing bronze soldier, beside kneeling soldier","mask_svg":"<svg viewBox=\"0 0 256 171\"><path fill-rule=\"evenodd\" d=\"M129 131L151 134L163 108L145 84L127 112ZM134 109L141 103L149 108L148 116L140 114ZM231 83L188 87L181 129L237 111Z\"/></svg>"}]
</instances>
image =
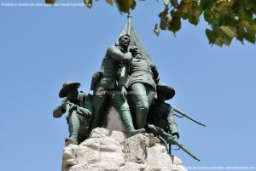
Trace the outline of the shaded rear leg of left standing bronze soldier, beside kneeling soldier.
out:
<instances>
[{"instance_id":1,"label":"shaded rear leg of left standing bronze soldier, beside kneeling soldier","mask_svg":"<svg viewBox=\"0 0 256 171\"><path fill-rule=\"evenodd\" d=\"M99 126L102 118L102 111L105 107L107 97L107 90L103 89L102 87L96 88L96 92L94 92L92 100L94 117L90 125L90 130L97 128Z\"/></svg>"}]
</instances>

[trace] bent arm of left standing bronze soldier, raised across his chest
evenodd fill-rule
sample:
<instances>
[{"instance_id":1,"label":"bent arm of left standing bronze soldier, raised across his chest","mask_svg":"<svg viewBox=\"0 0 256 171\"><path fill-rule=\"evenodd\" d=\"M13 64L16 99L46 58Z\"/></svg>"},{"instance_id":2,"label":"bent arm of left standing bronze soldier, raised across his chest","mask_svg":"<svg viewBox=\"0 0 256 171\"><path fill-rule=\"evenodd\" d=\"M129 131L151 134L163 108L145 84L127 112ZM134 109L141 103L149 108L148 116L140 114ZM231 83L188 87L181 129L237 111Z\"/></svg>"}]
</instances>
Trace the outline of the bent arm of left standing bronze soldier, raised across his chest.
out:
<instances>
[{"instance_id":1,"label":"bent arm of left standing bronze soldier, raised across his chest","mask_svg":"<svg viewBox=\"0 0 256 171\"><path fill-rule=\"evenodd\" d=\"M113 58L114 60L118 60L119 62L129 62L132 58L131 52L124 54L116 46L111 46L108 48L107 56Z\"/></svg>"}]
</instances>

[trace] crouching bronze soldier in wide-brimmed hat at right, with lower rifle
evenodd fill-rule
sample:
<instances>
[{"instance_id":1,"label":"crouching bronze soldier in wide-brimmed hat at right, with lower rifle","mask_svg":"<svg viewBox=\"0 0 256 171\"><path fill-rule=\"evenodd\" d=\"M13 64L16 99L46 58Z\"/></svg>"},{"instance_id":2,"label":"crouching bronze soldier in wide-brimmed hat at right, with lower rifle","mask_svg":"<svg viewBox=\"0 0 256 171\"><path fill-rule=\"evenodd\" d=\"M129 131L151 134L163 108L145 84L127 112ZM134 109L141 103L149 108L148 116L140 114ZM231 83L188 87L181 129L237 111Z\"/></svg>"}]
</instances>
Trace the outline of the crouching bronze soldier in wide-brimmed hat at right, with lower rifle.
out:
<instances>
[{"instance_id":1,"label":"crouching bronze soldier in wide-brimmed hat at right, with lower rifle","mask_svg":"<svg viewBox=\"0 0 256 171\"><path fill-rule=\"evenodd\" d=\"M148 111L147 123L145 129L148 133L154 134L169 144L169 150L171 145L177 145L180 149L189 154L195 160L200 161L189 150L187 150L177 139L179 134L177 131L177 123L174 120L174 108L165 102L170 100L174 96L175 91L173 88L164 84L157 85L157 99L154 100L154 104L151 105Z\"/></svg>"}]
</instances>

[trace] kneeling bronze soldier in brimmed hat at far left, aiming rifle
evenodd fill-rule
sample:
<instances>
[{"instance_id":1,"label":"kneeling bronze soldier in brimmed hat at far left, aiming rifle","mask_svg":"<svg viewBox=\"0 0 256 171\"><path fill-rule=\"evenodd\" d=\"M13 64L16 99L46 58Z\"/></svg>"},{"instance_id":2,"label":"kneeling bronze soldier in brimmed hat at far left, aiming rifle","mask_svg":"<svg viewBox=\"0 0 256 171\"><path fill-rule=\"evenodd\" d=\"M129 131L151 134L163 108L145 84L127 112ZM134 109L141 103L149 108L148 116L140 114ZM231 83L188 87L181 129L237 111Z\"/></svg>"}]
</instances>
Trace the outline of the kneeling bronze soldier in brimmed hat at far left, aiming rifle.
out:
<instances>
[{"instance_id":1,"label":"kneeling bronze soldier in brimmed hat at far left, aiming rifle","mask_svg":"<svg viewBox=\"0 0 256 171\"><path fill-rule=\"evenodd\" d=\"M66 146L78 145L90 136L91 95L79 92L79 87L80 83L64 83L59 93L60 98L63 98L62 103L53 111L53 117L61 117L66 113L69 130Z\"/></svg>"}]
</instances>

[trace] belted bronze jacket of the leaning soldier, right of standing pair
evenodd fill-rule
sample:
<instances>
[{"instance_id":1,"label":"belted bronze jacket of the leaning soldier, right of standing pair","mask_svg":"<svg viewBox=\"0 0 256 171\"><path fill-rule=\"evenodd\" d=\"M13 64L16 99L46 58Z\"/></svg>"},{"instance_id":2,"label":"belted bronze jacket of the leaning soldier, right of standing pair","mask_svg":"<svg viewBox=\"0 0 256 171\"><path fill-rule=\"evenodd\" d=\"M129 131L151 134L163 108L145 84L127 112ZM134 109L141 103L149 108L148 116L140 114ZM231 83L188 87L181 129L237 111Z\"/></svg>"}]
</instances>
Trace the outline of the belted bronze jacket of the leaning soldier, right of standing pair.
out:
<instances>
[{"instance_id":1,"label":"belted bronze jacket of the leaning soldier, right of standing pair","mask_svg":"<svg viewBox=\"0 0 256 171\"><path fill-rule=\"evenodd\" d=\"M146 83L156 90L155 82L158 77L159 74L154 64L146 59L132 59L128 87L133 83Z\"/></svg>"}]
</instances>

